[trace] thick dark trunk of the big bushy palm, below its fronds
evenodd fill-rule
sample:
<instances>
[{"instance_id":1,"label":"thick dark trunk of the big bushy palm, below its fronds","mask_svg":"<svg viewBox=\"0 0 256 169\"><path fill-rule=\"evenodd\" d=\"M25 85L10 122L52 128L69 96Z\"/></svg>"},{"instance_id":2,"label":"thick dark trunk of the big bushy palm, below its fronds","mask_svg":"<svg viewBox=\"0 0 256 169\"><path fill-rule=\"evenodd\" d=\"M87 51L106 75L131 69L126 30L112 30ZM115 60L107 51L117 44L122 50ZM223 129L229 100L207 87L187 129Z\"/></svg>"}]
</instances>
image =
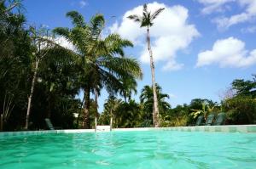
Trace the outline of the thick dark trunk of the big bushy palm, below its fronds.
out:
<instances>
[{"instance_id":1,"label":"thick dark trunk of the big bushy palm, below its fronds","mask_svg":"<svg viewBox=\"0 0 256 169\"><path fill-rule=\"evenodd\" d=\"M84 124L83 127L86 129L90 128L90 88L85 87L84 89Z\"/></svg>"}]
</instances>

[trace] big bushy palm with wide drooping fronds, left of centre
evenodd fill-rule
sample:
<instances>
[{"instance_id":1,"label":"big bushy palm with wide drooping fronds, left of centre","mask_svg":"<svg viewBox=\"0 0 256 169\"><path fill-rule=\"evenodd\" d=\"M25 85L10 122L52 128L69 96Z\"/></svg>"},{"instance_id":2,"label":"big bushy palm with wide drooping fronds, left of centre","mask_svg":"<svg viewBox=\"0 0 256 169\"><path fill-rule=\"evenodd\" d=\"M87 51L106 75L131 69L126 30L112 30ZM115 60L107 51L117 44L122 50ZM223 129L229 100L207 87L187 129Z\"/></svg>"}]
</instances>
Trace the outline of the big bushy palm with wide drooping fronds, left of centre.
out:
<instances>
[{"instance_id":1,"label":"big bushy palm with wide drooping fronds, left of centre","mask_svg":"<svg viewBox=\"0 0 256 169\"><path fill-rule=\"evenodd\" d=\"M102 87L108 93L117 93L122 83L119 79L141 78L142 70L135 59L126 58L124 48L132 43L118 34L102 38L105 20L96 14L90 23L76 11L67 13L73 20L73 29L55 28L54 32L72 42L80 65L81 88L84 89L84 128L90 128L90 93L99 95ZM97 97L96 97L97 98ZM97 102L96 102L97 103Z\"/></svg>"}]
</instances>

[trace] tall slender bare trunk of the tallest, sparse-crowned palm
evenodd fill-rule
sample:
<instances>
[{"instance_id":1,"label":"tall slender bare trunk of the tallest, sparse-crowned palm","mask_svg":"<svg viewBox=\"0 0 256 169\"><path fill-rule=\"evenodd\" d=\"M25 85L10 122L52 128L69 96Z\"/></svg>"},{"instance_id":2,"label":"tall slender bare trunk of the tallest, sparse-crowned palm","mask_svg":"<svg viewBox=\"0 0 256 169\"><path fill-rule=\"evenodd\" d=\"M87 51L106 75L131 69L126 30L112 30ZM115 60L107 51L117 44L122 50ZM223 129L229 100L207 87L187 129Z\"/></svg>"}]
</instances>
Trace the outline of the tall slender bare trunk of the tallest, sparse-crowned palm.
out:
<instances>
[{"instance_id":1,"label":"tall slender bare trunk of the tallest, sparse-crowned palm","mask_svg":"<svg viewBox=\"0 0 256 169\"><path fill-rule=\"evenodd\" d=\"M150 57L150 68L151 68L152 87L153 87L153 95L154 95L153 125L154 127L159 127L159 109L158 109L158 101L157 101L156 87L155 87L154 60L153 60L152 49L150 46L149 28L147 29L147 42L148 42L148 52Z\"/></svg>"}]
</instances>

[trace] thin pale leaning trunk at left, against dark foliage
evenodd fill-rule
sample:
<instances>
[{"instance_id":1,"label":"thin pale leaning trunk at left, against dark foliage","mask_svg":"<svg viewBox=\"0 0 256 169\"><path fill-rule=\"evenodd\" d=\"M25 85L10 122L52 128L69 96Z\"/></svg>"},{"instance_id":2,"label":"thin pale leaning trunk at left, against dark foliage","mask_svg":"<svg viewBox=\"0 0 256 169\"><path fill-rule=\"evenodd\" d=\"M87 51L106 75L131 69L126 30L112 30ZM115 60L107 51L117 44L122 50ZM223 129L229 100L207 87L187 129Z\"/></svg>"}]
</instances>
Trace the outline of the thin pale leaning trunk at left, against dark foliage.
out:
<instances>
[{"instance_id":1,"label":"thin pale leaning trunk at left, against dark foliage","mask_svg":"<svg viewBox=\"0 0 256 169\"><path fill-rule=\"evenodd\" d=\"M32 78L32 86L31 86L31 91L28 97L28 104L27 104L27 110L26 110L26 125L25 125L25 129L27 130L28 128L28 121L29 121L29 115L30 115L30 111L31 111L31 107L32 107L32 96L34 93L34 87L35 87L35 83L36 83L36 79L37 79L37 75L38 75L38 65L39 65L39 61L36 61L36 67L35 67L35 72Z\"/></svg>"}]
</instances>

